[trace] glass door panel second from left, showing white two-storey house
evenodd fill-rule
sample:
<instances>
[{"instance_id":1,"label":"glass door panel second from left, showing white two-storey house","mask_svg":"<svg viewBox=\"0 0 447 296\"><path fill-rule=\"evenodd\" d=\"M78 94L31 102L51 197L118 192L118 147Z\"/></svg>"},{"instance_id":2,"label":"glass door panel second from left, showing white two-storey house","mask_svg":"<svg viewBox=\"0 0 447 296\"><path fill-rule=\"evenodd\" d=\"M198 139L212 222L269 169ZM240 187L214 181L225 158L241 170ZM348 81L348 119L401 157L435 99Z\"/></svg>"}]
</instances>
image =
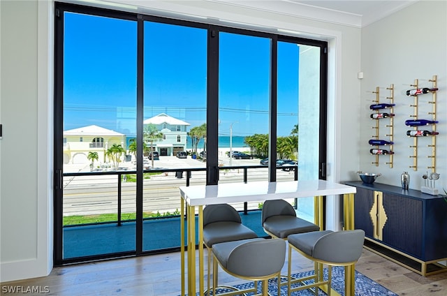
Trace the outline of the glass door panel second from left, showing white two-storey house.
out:
<instances>
[{"instance_id":1,"label":"glass door panel second from left, showing white two-storey house","mask_svg":"<svg viewBox=\"0 0 447 296\"><path fill-rule=\"evenodd\" d=\"M145 22L144 32L142 250L152 251L180 246L178 188L206 182L191 168L206 164L207 30Z\"/></svg>"}]
</instances>

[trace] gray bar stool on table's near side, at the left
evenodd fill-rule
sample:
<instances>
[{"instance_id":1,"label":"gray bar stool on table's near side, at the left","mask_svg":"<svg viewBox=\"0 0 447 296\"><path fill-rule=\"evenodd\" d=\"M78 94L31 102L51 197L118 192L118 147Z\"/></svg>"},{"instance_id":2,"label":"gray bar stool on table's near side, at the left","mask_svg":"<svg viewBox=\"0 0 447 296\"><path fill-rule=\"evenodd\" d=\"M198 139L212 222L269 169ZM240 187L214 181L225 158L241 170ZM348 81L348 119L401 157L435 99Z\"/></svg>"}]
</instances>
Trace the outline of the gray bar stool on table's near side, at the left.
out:
<instances>
[{"instance_id":1,"label":"gray bar stool on table's near side, at the left","mask_svg":"<svg viewBox=\"0 0 447 296\"><path fill-rule=\"evenodd\" d=\"M214 271L217 275L217 263L222 269L240 279L255 281L254 288L240 290L240 293L257 294L256 281L263 281L262 294L268 295L268 279L277 276L278 283L281 268L286 259L286 242L284 239L244 239L236 242L223 242L214 244ZM213 286L217 287L217 276L213 277ZM214 294L213 294L214 295ZM219 295L235 295L235 292ZM278 285L278 294L281 295L281 286Z\"/></svg>"}]
</instances>

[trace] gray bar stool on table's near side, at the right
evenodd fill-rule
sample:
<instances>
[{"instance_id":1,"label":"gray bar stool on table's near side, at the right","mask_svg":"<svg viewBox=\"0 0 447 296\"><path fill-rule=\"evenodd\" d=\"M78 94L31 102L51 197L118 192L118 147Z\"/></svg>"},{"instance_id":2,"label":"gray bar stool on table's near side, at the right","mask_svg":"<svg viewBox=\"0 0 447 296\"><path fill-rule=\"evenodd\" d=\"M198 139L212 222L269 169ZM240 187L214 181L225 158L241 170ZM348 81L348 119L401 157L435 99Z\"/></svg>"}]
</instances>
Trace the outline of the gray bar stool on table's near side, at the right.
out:
<instances>
[{"instance_id":1,"label":"gray bar stool on table's near side, at the right","mask_svg":"<svg viewBox=\"0 0 447 296\"><path fill-rule=\"evenodd\" d=\"M365 231L344 230L333 232L331 230L300 233L288 236L288 296L292 292L315 288L318 295L318 286L328 287L327 294L330 296L332 281L332 266L353 265L362 255ZM298 251L306 258L316 263L313 276L305 279L314 279L314 283L303 284L305 279L291 279L292 249ZM328 280L323 279L323 265L328 265ZM302 286L291 287L292 283L302 283ZM345 283L346 284L346 283Z\"/></svg>"}]
</instances>

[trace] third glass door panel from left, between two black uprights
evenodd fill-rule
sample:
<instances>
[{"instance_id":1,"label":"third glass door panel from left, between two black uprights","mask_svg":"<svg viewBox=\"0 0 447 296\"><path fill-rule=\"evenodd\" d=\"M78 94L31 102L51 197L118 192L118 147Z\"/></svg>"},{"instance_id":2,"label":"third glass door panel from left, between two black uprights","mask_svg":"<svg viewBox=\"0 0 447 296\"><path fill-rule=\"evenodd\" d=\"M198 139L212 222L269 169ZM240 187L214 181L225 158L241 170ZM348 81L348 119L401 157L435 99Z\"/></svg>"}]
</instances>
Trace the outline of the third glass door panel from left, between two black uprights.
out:
<instances>
[{"instance_id":1,"label":"third glass door panel from left, between two black uprights","mask_svg":"<svg viewBox=\"0 0 447 296\"><path fill-rule=\"evenodd\" d=\"M270 38L219 35L219 164L259 165L268 156ZM267 179L267 170L249 174ZM220 175L242 178L242 170ZM239 180L240 181L240 180ZM237 182L237 181L236 181Z\"/></svg>"}]
</instances>

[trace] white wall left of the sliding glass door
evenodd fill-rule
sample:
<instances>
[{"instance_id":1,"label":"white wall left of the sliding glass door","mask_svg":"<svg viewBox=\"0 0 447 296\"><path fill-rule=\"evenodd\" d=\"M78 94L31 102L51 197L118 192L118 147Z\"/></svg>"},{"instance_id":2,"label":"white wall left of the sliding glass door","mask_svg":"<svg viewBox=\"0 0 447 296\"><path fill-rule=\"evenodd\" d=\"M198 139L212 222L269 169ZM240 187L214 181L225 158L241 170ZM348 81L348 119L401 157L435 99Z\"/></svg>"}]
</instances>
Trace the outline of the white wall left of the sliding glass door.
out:
<instances>
[{"instance_id":1,"label":"white wall left of the sliding glass door","mask_svg":"<svg viewBox=\"0 0 447 296\"><path fill-rule=\"evenodd\" d=\"M0 1L0 281L52 268L51 10Z\"/></svg>"}]
</instances>

